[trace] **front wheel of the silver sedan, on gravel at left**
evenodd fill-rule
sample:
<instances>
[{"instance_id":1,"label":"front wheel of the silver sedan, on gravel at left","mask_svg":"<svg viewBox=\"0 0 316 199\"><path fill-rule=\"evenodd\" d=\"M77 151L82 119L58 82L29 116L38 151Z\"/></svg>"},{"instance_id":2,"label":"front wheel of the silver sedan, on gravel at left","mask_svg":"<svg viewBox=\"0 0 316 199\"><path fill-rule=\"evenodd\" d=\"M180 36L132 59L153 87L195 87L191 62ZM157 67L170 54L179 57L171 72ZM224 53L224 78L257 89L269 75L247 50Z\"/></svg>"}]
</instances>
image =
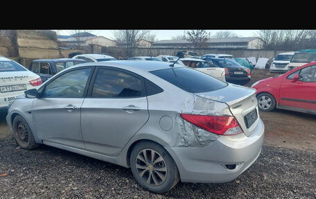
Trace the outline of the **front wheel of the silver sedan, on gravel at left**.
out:
<instances>
[{"instance_id":1,"label":"front wheel of the silver sedan, on gravel at left","mask_svg":"<svg viewBox=\"0 0 316 199\"><path fill-rule=\"evenodd\" d=\"M30 150L40 146L40 144L36 144L30 126L28 126L28 123L22 116L15 116L12 126L14 130L13 137L15 137L15 141L21 148Z\"/></svg>"}]
</instances>

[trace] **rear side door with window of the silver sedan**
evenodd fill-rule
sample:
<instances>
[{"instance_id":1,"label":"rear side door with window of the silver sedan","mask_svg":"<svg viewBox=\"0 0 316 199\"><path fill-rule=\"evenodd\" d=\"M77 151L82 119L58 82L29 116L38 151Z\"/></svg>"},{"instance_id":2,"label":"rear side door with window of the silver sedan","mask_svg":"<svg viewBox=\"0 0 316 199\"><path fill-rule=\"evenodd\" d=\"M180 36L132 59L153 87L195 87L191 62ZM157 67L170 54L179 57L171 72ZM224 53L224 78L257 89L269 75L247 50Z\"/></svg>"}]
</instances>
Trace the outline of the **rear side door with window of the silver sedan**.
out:
<instances>
[{"instance_id":1,"label":"rear side door with window of the silver sedan","mask_svg":"<svg viewBox=\"0 0 316 199\"><path fill-rule=\"evenodd\" d=\"M82 138L86 150L119 155L148 120L141 78L112 69L99 69L91 97L82 104Z\"/></svg>"}]
</instances>

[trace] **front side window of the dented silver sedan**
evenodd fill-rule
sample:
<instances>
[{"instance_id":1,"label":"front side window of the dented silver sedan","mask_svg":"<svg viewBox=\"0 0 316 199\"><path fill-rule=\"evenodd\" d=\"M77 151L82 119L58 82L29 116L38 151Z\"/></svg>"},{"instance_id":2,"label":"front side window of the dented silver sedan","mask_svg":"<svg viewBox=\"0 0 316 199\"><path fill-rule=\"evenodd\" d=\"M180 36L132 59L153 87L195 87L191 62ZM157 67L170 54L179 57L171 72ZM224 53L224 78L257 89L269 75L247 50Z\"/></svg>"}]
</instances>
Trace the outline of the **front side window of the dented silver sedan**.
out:
<instances>
[{"instance_id":1,"label":"front side window of the dented silver sedan","mask_svg":"<svg viewBox=\"0 0 316 199\"><path fill-rule=\"evenodd\" d=\"M46 85L44 97L82 97L90 72L91 69L78 69L62 74Z\"/></svg>"}]
</instances>

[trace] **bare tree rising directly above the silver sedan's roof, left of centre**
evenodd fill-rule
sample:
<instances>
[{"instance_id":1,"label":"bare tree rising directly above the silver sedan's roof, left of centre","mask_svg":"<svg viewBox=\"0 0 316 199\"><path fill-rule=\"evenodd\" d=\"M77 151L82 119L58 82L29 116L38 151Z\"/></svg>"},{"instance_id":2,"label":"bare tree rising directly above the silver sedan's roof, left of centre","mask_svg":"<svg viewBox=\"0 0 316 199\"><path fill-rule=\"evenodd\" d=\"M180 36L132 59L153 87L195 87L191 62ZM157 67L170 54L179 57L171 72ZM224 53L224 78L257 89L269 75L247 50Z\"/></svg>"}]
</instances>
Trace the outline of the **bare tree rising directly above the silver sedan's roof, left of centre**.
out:
<instances>
[{"instance_id":1,"label":"bare tree rising directly above the silver sedan's roof, left of centre","mask_svg":"<svg viewBox=\"0 0 316 199\"><path fill-rule=\"evenodd\" d=\"M132 57L134 49L139 46L139 42L150 34L148 30L118 30L114 31L114 37L119 46L126 48L128 57Z\"/></svg>"}]
</instances>

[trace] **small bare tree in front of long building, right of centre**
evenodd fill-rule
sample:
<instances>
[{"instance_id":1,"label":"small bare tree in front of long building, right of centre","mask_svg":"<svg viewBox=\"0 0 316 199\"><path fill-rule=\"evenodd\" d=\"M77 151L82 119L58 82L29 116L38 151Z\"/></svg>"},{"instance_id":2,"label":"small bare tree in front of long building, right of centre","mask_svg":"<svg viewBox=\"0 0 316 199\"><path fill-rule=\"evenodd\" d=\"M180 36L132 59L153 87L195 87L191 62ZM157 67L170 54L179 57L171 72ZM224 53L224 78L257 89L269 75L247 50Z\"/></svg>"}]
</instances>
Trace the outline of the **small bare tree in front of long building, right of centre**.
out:
<instances>
[{"instance_id":1,"label":"small bare tree in front of long building, right of centre","mask_svg":"<svg viewBox=\"0 0 316 199\"><path fill-rule=\"evenodd\" d=\"M207 41L211 37L210 35L211 33L206 30L191 30L186 32L186 40L192 42L195 48L207 47Z\"/></svg>"}]
</instances>

